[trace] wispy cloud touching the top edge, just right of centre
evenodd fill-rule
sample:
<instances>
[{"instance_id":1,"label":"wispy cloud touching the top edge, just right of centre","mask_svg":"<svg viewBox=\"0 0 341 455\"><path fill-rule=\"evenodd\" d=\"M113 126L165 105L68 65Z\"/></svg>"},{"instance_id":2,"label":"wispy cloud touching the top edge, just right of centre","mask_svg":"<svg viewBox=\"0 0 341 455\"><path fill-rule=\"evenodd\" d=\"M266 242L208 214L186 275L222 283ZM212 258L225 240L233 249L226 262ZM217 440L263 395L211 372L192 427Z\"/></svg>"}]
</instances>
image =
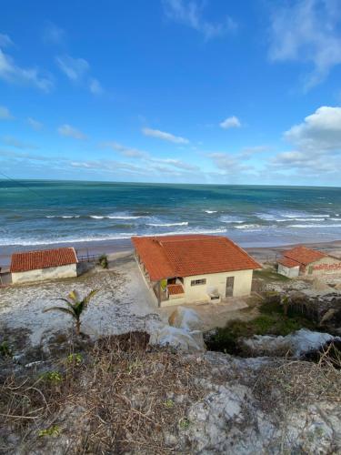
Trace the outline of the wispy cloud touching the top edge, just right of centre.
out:
<instances>
[{"instance_id":1,"label":"wispy cloud touching the top edge, just right of centre","mask_svg":"<svg viewBox=\"0 0 341 455\"><path fill-rule=\"evenodd\" d=\"M191 0L163 0L165 15L179 24L187 25L197 32L203 34L206 39L226 35L234 32L237 28L236 22L230 16L226 16L219 23L206 21L203 16L203 9L206 2Z\"/></svg>"}]
</instances>

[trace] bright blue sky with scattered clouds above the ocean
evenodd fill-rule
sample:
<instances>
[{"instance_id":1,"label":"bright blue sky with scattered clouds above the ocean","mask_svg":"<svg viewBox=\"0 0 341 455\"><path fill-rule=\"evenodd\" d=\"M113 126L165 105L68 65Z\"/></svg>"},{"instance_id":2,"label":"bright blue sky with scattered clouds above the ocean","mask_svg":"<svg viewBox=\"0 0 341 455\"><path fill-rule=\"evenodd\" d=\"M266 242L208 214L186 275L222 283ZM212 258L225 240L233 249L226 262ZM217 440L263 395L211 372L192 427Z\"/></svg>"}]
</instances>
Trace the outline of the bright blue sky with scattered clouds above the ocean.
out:
<instances>
[{"instance_id":1,"label":"bright blue sky with scattered clouds above the ocean","mask_svg":"<svg viewBox=\"0 0 341 455\"><path fill-rule=\"evenodd\" d=\"M335 186L341 0L2 0L0 178Z\"/></svg>"}]
</instances>

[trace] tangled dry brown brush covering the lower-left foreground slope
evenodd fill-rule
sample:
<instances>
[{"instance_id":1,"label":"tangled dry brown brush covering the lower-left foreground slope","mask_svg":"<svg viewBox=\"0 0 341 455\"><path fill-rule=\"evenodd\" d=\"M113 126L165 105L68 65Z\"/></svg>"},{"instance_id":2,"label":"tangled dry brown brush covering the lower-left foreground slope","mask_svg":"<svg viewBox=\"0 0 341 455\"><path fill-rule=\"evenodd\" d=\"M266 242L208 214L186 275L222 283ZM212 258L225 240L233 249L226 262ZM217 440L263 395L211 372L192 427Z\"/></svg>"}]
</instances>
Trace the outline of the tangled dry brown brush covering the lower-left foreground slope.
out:
<instances>
[{"instance_id":1,"label":"tangled dry brown brush covering the lower-left foreground slope","mask_svg":"<svg viewBox=\"0 0 341 455\"><path fill-rule=\"evenodd\" d=\"M146 351L148 340L143 332L101 339L86 360L74 353L54 370L7 378L0 427L19 435L24 453L66 440L68 453L172 452L164 431L186 430L186 410L204 391L196 364L168 349ZM205 363L200 369L205 376Z\"/></svg>"}]
</instances>

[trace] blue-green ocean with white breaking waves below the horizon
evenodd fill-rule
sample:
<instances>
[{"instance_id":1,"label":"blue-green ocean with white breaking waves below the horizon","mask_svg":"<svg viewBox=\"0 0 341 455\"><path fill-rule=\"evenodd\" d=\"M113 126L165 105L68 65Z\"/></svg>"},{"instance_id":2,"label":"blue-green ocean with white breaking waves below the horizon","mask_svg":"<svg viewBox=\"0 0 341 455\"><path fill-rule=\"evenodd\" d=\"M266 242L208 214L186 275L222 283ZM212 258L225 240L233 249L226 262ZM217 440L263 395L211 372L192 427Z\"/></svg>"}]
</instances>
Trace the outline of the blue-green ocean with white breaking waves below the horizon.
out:
<instances>
[{"instance_id":1,"label":"blue-green ocean with white breaking waves below the horizon","mask_svg":"<svg viewBox=\"0 0 341 455\"><path fill-rule=\"evenodd\" d=\"M341 188L0 180L0 253L207 233L244 247L341 238Z\"/></svg>"}]
</instances>

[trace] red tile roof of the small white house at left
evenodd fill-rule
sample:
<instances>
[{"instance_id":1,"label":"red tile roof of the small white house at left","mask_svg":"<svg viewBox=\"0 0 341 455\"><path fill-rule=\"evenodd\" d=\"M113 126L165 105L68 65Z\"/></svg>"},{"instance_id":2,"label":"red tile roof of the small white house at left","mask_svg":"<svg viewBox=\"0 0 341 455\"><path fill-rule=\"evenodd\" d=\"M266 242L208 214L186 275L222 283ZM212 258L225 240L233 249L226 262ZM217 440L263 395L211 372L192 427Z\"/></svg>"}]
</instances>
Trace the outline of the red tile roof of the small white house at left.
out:
<instances>
[{"instance_id":1,"label":"red tile roof of the small white house at left","mask_svg":"<svg viewBox=\"0 0 341 455\"><path fill-rule=\"evenodd\" d=\"M75 248L43 249L40 251L25 251L12 255L12 273L27 272L39 268L67 266L78 262Z\"/></svg>"}]
</instances>

